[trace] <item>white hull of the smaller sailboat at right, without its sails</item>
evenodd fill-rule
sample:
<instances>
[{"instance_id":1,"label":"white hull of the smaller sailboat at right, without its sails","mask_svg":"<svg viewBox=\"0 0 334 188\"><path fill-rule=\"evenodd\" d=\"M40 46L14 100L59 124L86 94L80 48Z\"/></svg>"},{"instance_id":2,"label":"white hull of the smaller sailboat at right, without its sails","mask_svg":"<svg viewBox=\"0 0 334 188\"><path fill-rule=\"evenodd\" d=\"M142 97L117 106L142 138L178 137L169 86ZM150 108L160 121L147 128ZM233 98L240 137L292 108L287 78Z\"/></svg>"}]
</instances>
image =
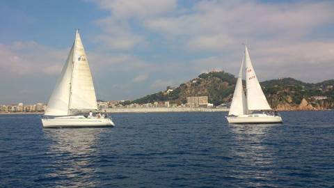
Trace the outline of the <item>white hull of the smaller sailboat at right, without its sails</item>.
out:
<instances>
[{"instance_id":1,"label":"white hull of the smaller sailboat at right, without its sails","mask_svg":"<svg viewBox=\"0 0 334 188\"><path fill-rule=\"evenodd\" d=\"M253 113L240 116L228 116L228 123L282 123L280 116L273 116L263 113Z\"/></svg>"}]
</instances>

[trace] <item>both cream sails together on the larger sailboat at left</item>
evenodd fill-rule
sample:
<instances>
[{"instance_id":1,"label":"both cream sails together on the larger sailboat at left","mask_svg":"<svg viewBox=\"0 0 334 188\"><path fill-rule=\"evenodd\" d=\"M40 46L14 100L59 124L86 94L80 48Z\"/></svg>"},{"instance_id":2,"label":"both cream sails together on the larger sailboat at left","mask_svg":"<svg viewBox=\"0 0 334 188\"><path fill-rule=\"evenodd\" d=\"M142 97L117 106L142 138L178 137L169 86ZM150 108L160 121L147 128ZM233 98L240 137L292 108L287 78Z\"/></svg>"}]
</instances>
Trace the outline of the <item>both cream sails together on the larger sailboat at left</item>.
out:
<instances>
[{"instance_id":1,"label":"both cream sails together on the larger sailboat at left","mask_svg":"<svg viewBox=\"0 0 334 188\"><path fill-rule=\"evenodd\" d=\"M61 77L47 103L46 116L68 116L96 110L97 102L86 53L78 31Z\"/></svg>"}]
</instances>

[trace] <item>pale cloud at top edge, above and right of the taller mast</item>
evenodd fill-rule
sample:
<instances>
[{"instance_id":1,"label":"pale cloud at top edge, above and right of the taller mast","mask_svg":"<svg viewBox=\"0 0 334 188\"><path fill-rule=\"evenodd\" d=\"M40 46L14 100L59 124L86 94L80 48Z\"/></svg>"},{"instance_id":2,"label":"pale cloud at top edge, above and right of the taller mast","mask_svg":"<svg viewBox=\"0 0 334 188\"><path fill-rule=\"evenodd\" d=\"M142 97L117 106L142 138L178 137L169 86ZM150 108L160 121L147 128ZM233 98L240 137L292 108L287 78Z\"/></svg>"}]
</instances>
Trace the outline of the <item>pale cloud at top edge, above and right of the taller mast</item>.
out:
<instances>
[{"instance_id":1,"label":"pale cloud at top edge, above and right of the taller mast","mask_svg":"<svg viewBox=\"0 0 334 188\"><path fill-rule=\"evenodd\" d=\"M97 20L104 33L97 36L97 42L102 42L111 49L129 50L136 45L145 46L147 41L138 33L132 31L129 22L141 22L142 19L163 15L176 8L175 0L97 0L100 8L109 10L110 16Z\"/></svg>"}]
</instances>

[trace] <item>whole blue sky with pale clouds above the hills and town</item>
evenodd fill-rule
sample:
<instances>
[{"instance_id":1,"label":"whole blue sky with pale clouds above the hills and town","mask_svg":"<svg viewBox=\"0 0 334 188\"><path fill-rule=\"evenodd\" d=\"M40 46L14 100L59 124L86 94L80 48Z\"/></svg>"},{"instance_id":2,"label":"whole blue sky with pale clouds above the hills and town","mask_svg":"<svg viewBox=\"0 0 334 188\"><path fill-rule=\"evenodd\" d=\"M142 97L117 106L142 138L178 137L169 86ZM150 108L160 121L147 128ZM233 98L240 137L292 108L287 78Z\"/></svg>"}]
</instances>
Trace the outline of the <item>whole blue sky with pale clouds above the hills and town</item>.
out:
<instances>
[{"instance_id":1,"label":"whole blue sky with pale clouds above the hills and town","mask_svg":"<svg viewBox=\"0 0 334 188\"><path fill-rule=\"evenodd\" d=\"M334 79L334 1L0 1L0 104L47 102L81 39L100 100L134 100L208 70Z\"/></svg>"}]
</instances>

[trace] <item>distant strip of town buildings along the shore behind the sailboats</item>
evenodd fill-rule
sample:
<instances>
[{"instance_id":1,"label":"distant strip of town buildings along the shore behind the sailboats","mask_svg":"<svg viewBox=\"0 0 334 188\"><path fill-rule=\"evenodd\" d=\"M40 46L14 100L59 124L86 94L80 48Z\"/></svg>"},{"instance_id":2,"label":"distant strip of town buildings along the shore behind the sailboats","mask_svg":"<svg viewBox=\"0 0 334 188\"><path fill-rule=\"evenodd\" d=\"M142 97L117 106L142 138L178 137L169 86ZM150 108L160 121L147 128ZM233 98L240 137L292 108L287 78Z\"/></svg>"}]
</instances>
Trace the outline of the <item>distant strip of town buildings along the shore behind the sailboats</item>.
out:
<instances>
[{"instance_id":1,"label":"distant strip of town buildings along the shore behind the sailboats","mask_svg":"<svg viewBox=\"0 0 334 188\"><path fill-rule=\"evenodd\" d=\"M228 109L228 104L221 104L214 107L214 104L208 102L208 96L200 97L186 97L186 104L170 104L169 101L165 102L152 102L146 104L130 103L127 104L125 100L111 100L104 102L97 101L97 107L100 111L111 109L152 109L152 108L207 108L207 109ZM3 104L0 105L1 113L42 113L47 108L47 104L36 103L24 105L22 102L18 104Z\"/></svg>"}]
</instances>

